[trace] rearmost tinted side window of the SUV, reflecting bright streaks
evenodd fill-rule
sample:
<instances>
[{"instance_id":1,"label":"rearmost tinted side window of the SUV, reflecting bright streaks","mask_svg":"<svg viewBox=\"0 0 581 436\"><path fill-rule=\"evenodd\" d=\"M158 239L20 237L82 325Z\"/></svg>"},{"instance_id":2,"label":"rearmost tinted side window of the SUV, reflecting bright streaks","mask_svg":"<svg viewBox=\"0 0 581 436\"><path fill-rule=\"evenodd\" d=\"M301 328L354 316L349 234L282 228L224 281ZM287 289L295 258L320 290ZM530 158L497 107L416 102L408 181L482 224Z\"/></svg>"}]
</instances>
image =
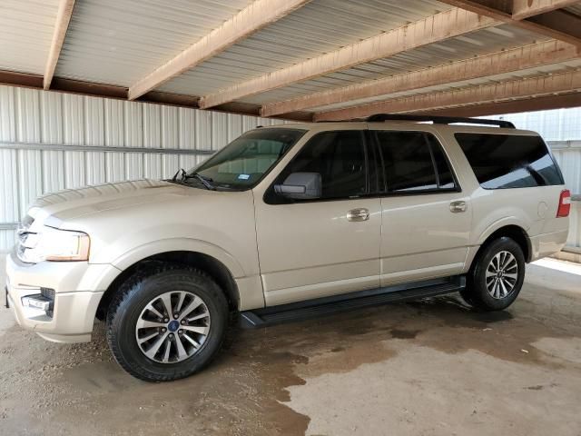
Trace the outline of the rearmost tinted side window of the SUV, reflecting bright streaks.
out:
<instances>
[{"instance_id":1,"label":"rearmost tinted side window of the SUV, reflecting bright streaks","mask_svg":"<svg viewBox=\"0 0 581 436\"><path fill-rule=\"evenodd\" d=\"M563 176L539 136L455 134L485 189L563 184Z\"/></svg>"}]
</instances>

